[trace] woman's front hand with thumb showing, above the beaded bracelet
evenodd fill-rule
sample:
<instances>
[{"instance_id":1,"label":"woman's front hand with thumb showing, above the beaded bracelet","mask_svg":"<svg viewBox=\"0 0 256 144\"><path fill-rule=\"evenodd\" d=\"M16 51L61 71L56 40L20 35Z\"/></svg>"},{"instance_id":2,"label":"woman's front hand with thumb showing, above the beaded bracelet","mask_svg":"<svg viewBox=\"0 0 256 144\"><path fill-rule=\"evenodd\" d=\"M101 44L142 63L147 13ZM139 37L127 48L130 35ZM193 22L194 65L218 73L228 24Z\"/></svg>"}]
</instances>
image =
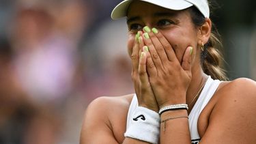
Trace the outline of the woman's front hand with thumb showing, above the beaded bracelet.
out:
<instances>
[{"instance_id":1,"label":"woman's front hand with thumb showing, above the beaded bracelet","mask_svg":"<svg viewBox=\"0 0 256 144\"><path fill-rule=\"evenodd\" d=\"M147 30L147 32L145 31ZM143 42L150 49L147 57L147 73L159 109L170 104L186 104L186 91L191 81L191 55L188 46L180 63L165 37L154 29L144 28Z\"/></svg>"}]
</instances>

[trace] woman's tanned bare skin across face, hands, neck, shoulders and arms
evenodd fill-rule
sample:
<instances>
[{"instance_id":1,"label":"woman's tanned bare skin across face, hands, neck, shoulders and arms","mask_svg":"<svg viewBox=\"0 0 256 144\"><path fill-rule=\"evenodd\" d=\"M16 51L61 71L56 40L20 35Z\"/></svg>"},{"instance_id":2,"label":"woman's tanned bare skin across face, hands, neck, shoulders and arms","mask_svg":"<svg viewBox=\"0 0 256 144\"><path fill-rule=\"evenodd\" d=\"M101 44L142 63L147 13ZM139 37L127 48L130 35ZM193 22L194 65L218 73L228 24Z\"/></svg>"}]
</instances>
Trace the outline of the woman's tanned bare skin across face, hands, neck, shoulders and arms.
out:
<instances>
[{"instance_id":1,"label":"woman's tanned bare skin across face, hands, neck, shoulders and arms","mask_svg":"<svg viewBox=\"0 0 256 144\"><path fill-rule=\"evenodd\" d=\"M211 25L208 18L203 26L195 27L188 10L173 11L141 1L132 2L128 10L128 53L139 105L158 111L166 104L192 101L206 78L201 69L200 53L201 44L210 38ZM150 32L150 39L146 39L143 37L145 26L155 27L159 32ZM141 33L141 43L135 40L137 31ZM160 42L168 51L161 52L156 44L150 46L150 52L142 50L143 45L148 46L150 42ZM193 47L192 55L189 55L189 46ZM142 51L146 57L140 59ZM158 59L154 59L155 52L161 53ZM163 57L168 57L168 61ZM152 67L148 66L150 62L154 63ZM143 63L147 66L143 67ZM161 66L168 71L161 73ZM139 74L141 70L147 70L147 74ZM222 82L199 116L200 143L256 143L255 93L256 84L249 79ZM145 143L124 137L132 96L134 94L102 97L91 102L85 113L81 143ZM193 109L194 104L189 109ZM190 110L168 111L161 119L189 113ZM160 143L191 143L187 119L169 121L168 126L165 133L160 133Z\"/></svg>"}]
</instances>

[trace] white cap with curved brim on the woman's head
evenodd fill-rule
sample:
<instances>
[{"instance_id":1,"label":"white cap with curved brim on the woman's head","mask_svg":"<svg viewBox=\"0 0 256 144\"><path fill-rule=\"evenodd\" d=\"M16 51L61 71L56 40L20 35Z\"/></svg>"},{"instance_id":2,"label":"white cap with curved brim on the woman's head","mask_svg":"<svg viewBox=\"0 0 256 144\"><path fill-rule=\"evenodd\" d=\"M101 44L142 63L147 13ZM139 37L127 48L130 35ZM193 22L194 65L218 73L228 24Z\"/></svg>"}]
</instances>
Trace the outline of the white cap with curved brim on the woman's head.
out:
<instances>
[{"instance_id":1,"label":"white cap with curved brim on the woman's head","mask_svg":"<svg viewBox=\"0 0 256 144\"><path fill-rule=\"evenodd\" d=\"M205 16L205 18L210 17L210 10L207 0L140 0L147 3L152 3L158 5L162 8L167 8L169 10L184 10L193 5ZM125 17L127 10L129 8L132 0L124 0L119 3L111 13L111 18L113 20L117 18Z\"/></svg>"}]
</instances>

